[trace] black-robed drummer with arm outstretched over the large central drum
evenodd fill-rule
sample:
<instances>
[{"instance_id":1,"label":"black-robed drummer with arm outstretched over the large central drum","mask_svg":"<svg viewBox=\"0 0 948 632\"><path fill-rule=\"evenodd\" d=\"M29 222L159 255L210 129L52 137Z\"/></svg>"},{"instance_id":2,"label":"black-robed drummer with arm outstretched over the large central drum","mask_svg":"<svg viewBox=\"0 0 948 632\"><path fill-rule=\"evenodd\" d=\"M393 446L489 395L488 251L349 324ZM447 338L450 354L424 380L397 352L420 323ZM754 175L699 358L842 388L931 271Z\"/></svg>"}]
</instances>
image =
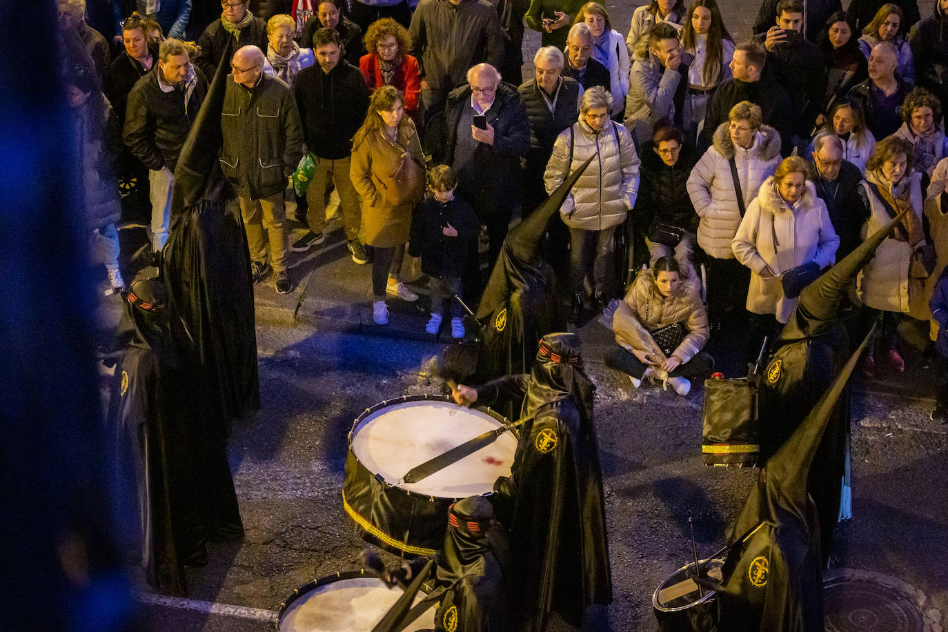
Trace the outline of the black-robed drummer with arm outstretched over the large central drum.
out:
<instances>
[{"instance_id":1,"label":"black-robed drummer with arm outstretched over the large central drum","mask_svg":"<svg viewBox=\"0 0 948 632\"><path fill-rule=\"evenodd\" d=\"M574 334L548 334L529 375L478 388L478 401L523 399L510 479L511 588L523 630L542 630L551 611L582 623L590 604L612 601L602 470L593 426L593 384L581 370Z\"/></svg>"}]
</instances>

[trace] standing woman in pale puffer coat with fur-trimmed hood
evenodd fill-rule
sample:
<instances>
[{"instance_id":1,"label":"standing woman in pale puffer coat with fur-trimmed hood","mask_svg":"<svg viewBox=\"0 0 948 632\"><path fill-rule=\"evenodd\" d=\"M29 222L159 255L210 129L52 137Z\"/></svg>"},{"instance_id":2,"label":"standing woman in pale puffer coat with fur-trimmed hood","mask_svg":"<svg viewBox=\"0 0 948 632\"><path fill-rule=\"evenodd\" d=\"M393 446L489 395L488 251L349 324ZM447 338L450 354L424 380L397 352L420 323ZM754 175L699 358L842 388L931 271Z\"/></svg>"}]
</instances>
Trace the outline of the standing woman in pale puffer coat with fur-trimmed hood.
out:
<instances>
[{"instance_id":1,"label":"standing woman in pale puffer coat with fur-trimmed hood","mask_svg":"<svg viewBox=\"0 0 948 632\"><path fill-rule=\"evenodd\" d=\"M708 312L720 323L725 313L739 308L747 296L750 273L734 259L731 241L738 232L741 212L731 172L734 160L744 208L780 162L780 135L762 124L760 108L740 101L731 108L729 122L714 133L714 144L702 155L688 177L687 189L701 217L698 245L713 261L709 265Z\"/></svg>"}]
</instances>

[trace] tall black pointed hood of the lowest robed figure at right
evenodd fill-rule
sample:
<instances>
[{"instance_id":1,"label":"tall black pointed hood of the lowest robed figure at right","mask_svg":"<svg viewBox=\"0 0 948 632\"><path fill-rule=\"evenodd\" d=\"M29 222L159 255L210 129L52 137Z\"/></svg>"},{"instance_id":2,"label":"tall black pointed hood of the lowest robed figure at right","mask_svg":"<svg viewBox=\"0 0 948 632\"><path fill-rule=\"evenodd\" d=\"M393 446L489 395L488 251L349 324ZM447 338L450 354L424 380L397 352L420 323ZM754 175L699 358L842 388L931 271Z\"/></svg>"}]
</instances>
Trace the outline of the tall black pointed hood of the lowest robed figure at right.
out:
<instances>
[{"instance_id":1,"label":"tall black pointed hood of the lowest robed figure at right","mask_svg":"<svg viewBox=\"0 0 948 632\"><path fill-rule=\"evenodd\" d=\"M760 470L757 485L751 489L744 508L731 527L728 544L736 544L760 523L779 527L787 520L793 520L797 523L797 528L804 533L810 532L811 520L808 516L811 512L808 511L808 503L812 501L807 492L807 479L810 476L813 456L823 440L823 433L830 422L833 408L842 396L856 363L874 333L875 328L866 336L859 349L849 357L832 386L793 431L790 439L777 449Z\"/></svg>"}]
</instances>

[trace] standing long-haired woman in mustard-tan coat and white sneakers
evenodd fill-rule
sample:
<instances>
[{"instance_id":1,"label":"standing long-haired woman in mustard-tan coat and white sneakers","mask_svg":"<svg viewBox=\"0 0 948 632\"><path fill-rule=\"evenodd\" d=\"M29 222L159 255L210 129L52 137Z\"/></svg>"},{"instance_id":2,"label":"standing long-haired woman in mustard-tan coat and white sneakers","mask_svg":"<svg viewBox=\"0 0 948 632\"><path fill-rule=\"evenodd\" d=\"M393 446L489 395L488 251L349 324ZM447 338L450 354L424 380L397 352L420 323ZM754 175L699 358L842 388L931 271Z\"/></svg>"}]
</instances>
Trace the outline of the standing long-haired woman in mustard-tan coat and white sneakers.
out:
<instances>
[{"instance_id":1,"label":"standing long-haired woman in mustard-tan coat and white sneakers","mask_svg":"<svg viewBox=\"0 0 948 632\"><path fill-rule=\"evenodd\" d=\"M374 248L372 316L389 324L386 294L403 300L418 295L398 281L409 241L411 208L425 192L425 156L418 132L405 116L405 97L391 85L372 95L369 114L353 138L349 170L362 198L365 243Z\"/></svg>"}]
</instances>

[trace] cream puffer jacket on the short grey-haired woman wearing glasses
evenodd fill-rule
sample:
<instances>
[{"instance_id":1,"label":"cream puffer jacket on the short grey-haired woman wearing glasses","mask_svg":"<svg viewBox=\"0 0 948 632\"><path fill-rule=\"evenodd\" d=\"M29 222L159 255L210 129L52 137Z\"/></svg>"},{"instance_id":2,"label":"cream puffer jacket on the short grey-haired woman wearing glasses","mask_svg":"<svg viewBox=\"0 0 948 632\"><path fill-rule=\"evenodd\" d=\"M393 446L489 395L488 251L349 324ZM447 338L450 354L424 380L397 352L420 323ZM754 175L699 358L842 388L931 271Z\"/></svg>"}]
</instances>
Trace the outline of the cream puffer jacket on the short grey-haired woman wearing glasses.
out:
<instances>
[{"instance_id":1,"label":"cream puffer jacket on the short grey-haired woman wearing glasses","mask_svg":"<svg viewBox=\"0 0 948 632\"><path fill-rule=\"evenodd\" d=\"M567 164L570 162L570 129L573 130L573 162ZM559 208L560 217L566 226L583 230L618 226L626 221L626 213L635 206L639 189L639 155L635 153L629 130L622 124L610 121L606 129L596 133L580 115L579 122L556 136L543 183L547 192L552 193L566 179L567 172L573 172L590 156L596 157Z\"/></svg>"}]
</instances>

